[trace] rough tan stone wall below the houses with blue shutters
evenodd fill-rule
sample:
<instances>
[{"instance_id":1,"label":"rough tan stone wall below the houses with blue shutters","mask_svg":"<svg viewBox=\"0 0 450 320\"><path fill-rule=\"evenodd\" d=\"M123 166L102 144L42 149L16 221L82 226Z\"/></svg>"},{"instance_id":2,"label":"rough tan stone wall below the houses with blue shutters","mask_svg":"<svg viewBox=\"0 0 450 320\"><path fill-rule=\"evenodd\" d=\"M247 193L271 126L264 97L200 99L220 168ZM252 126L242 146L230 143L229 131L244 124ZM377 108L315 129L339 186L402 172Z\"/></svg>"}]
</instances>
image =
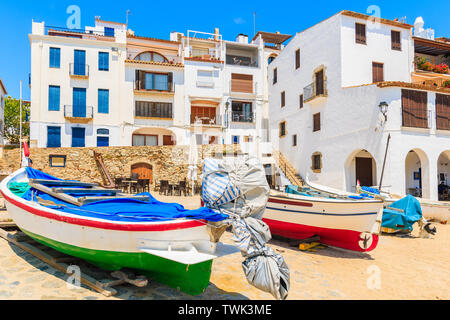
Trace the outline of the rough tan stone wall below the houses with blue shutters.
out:
<instances>
[{"instance_id":1,"label":"rough tan stone wall below the houses with blue shutters","mask_svg":"<svg viewBox=\"0 0 450 320\"><path fill-rule=\"evenodd\" d=\"M201 174L201 160L207 157L232 155L239 152L238 145L198 146L198 174ZM106 169L112 178L130 177L131 165L147 163L152 166L153 184L159 180L178 182L187 177L189 146L144 146L144 147L97 147L97 148L32 148L30 158L33 168L62 179L83 182L106 183L94 158L94 151L100 153ZM3 174L14 172L20 167L19 149L4 150L0 160ZM51 167L50 155L65 155L65 167Z\"/></svg>"}]
</instances>

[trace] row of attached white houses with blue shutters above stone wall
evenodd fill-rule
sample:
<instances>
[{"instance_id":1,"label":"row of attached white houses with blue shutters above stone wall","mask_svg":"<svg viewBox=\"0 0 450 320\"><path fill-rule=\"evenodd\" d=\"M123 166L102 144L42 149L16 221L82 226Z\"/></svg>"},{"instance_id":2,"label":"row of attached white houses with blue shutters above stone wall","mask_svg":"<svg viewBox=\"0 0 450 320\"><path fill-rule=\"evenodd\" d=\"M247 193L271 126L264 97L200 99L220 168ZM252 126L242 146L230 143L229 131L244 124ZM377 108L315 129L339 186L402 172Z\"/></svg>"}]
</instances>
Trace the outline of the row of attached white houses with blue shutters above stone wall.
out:
<instances>
[{"instance_id":1,"label":"row of attached white houses with blue shutters above stone wall","mask_svg":"<svg viewBox=\"0 0 450 320\"><path fill-rule=\"evenodd\" d=\"M267 67L290 36L225 41L216 29L164 40L96 18L83 32L33 22L29 37L32 146L186 145L195 134L271 152Z\"/></svg>"}]
</instances>

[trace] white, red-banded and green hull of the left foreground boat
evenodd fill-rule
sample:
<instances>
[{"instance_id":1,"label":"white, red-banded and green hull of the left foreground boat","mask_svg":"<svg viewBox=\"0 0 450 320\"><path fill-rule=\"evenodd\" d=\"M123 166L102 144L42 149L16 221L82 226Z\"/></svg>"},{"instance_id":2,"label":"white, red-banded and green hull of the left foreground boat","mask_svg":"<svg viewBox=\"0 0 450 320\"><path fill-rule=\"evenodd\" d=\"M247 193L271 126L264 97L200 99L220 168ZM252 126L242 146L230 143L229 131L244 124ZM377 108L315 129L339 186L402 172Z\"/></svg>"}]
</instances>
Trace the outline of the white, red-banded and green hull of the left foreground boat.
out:
<instances>
[{"instance_id":1,"label":"white, red-banded and green hull of the left foreground boat","mask_svg":"<svg viewBox=\"0 0 450 320\"><path fill-rule=\"evenodd\" d=\"M8 179L8 178L7 178ZM137 269L157 282L191 295L209 285L212 259L179 263L145 252L173 249L213 254L208 226L202 220L126 223L62 213L12 194L1 184L6 207L17 226L36 241L105 270ZM170 250L170 249L169 249Z\"/></svg>"}]
</instances>

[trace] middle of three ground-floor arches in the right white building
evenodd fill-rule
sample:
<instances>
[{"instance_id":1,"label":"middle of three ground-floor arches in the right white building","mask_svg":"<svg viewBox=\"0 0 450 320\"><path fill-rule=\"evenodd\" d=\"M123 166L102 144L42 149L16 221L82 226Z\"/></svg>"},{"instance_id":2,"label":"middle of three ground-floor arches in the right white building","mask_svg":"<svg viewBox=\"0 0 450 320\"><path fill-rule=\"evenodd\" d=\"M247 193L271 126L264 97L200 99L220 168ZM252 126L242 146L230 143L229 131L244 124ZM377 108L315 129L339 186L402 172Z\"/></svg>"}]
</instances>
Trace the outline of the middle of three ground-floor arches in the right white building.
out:
<instances>
[{"instance_id":1,"label":"middle of three ground-floor arches in the right white building","mask_svg":"<svg viewBox=\"0 0 450 320\"><path fill-rule=\"evenodd\" d=\"M421 149L413 149L405 158L405 194L430 197L429 161Z\"/></svg>"}]
</instances>

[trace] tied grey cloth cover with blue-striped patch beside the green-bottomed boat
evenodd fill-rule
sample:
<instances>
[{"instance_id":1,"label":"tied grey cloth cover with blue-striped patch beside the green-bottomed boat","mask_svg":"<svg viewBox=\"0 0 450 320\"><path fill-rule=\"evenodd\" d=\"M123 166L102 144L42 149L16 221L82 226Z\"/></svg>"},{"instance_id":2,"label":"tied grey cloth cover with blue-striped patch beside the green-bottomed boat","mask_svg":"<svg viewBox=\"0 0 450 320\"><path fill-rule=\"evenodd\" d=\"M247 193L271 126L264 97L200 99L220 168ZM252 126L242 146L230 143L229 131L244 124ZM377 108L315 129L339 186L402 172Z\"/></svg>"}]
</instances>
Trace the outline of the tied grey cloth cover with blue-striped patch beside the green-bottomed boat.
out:
<instances>
[{"instance_id":1,"label":"tied grey cloth cover with blue-striped patch beside the green-bottomed boat","mask_svg":"<svg viewBox=\"0 0 450 320\"><path fill-rule=\"evenodd\" d=\"M266 246L269 227L261 219L269 199L264 167L256 159L205 159L202 199L217 213L228 215L233 240L245 258L242 268L247 281L277 299L289 291L289 268L283 257Z\"/></svg>"}]
</instances>

